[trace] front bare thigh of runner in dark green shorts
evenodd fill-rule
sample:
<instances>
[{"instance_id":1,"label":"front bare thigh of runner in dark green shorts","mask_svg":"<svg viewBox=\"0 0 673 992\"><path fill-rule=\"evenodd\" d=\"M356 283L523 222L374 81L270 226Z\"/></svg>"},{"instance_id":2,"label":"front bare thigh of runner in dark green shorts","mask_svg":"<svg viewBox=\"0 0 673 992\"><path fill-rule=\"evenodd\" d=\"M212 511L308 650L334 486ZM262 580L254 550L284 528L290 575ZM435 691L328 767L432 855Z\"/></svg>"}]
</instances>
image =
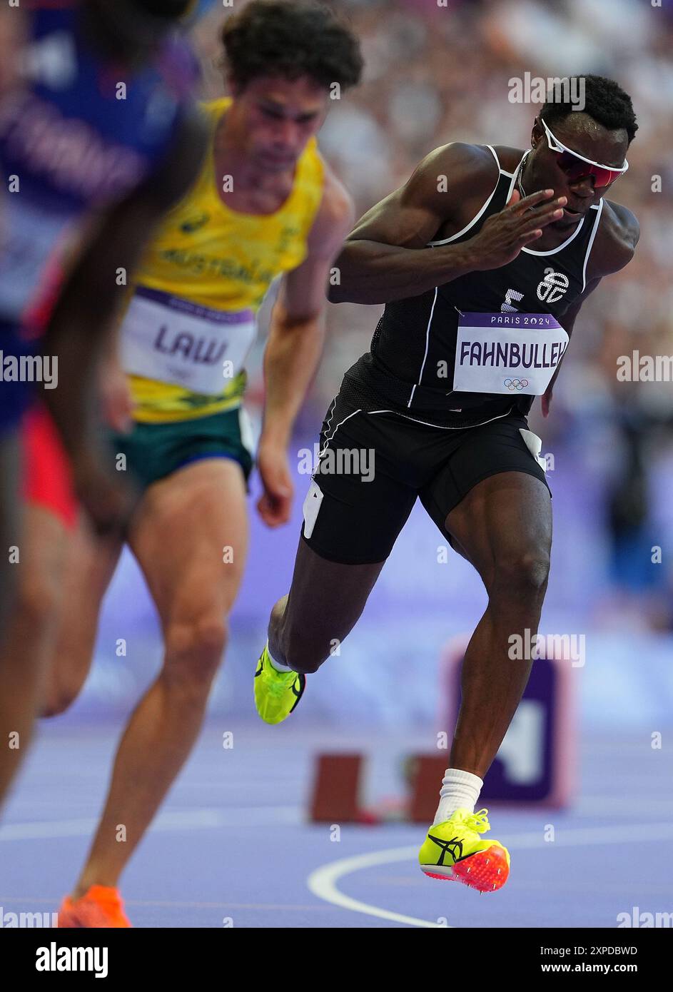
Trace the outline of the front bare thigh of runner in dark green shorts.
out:
<instances>
[{"instance_id":1,"label":"front bare thigh of runner in dark green shorts","mask_svg":"<svg viewBox=\"0 0 673 992\"><path fill-rule=\"evenodd\" d=\"M204 458L153 483L129 532L164 627L229 612L248 544L245 479L231 458Z\"/></svg>"}]
</instances>

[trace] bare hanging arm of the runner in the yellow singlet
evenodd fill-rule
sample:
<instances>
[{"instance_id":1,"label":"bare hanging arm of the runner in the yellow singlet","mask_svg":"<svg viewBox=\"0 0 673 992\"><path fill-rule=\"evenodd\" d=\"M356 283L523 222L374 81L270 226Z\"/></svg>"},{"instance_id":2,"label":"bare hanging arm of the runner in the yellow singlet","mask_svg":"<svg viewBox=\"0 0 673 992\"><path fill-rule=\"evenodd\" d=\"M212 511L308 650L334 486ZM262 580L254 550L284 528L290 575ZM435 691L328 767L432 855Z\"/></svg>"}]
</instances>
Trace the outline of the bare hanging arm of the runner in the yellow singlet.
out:
<instances>
[{"instance_id":1,"label":"bare hanging arm of the runner in the yellow singlet","mask_svg":"<svg viewBox=\"0 0 673 992\"><path fill-rule=\"evenodd\" d=\"M264 351L266 397L257 451L264 494L257 509L269 527L290 519L293 486L287 446L323 350L331 267L353 221L350 195L326 166L307 257L281 284Z\"/></svg>"}]
</instances>

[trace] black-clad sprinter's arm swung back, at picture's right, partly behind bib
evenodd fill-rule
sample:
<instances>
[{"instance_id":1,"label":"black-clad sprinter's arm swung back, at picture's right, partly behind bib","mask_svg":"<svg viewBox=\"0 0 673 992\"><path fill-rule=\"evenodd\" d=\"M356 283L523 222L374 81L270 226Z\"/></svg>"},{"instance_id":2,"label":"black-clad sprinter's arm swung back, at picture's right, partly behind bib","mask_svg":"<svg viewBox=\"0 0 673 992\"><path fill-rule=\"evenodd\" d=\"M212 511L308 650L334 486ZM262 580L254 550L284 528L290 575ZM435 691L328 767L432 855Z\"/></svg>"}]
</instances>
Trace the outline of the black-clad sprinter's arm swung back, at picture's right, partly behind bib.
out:
<instances>
[{"instance_id":1,"label":"black-clad sprinter's arm swung back, at picture's right, partly behind bib","mask_svg":"<svg viewBox=\"0 0 673 992\"><path fill-rule=\"evenodd\" d=\"M606 200L604 218L602 218L601 226L596 235L596 243L587 271L587 286L585 291L566 310L563 316L559 317L559 323L563 326L568 337L573 336L573 328L575 327L577 315L582 309L582 305L587 297L594 292L602 279L628 265L633 258L635 246L639 238L640 225L635 215L620 203L612 203ZM554 384L556 383L562 364L563 358L559 362L552 381L549 383L542 397L543 417L549 417Z\"/></svg>"}]
</instances>

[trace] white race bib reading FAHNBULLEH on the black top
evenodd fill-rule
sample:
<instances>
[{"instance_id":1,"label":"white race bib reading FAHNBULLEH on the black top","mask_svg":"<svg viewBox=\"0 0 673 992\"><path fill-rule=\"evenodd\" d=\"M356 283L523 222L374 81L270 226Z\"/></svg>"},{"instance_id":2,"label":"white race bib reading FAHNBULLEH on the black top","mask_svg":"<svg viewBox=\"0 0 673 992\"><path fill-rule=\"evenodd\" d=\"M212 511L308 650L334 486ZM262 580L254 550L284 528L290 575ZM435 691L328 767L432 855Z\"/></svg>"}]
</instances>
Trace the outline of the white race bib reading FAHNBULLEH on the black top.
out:
<instances>
[{"instance_id":1,"label":"white race bib reading FAHNBULLEH on the black top","mask_svg":"<svg viewBox=\"0 0 673 992\"><path fill-rule=\"evenodd\" d=\"M542 396L568 341L551 313L462 313L454 389Z\"/></svg>"}]
</instances>

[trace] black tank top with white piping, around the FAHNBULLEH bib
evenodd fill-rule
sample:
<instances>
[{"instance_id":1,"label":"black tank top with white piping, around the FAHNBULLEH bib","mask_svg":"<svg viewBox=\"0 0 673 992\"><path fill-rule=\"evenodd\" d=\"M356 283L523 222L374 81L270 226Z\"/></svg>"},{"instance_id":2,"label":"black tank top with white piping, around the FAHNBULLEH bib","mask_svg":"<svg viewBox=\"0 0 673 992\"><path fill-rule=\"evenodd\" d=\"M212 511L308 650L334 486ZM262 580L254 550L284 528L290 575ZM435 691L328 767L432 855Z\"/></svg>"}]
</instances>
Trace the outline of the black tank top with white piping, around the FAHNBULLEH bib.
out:
<instances>
[{"instance_id":1,"label":"black tank top with white piping, around the FAHNBULLEH bib","mask_svg":"<svg viewBox=\"0 0 673 992\"><path fill-rule=\"evenodd\" d=\"M497 185L467 227L443 241L430 242L430 247L468 241L509 200L528 153L512 174L500 167L494 149L487 147L498 166ZM344 386L353 393L353 401L363 410L378 409L383 403L386 410L448 427L469 427L510 411L527 414L533 396L453 390L459 311L551 313L562 323L563 314L585 290L602 208L603 200L552 251L523 248L513 262L499 269L471 272L421 296L386 304L370 350L345 373ZM440 362L446 363L448 378L438 378Z\"/></svg>"}]
</instances>

